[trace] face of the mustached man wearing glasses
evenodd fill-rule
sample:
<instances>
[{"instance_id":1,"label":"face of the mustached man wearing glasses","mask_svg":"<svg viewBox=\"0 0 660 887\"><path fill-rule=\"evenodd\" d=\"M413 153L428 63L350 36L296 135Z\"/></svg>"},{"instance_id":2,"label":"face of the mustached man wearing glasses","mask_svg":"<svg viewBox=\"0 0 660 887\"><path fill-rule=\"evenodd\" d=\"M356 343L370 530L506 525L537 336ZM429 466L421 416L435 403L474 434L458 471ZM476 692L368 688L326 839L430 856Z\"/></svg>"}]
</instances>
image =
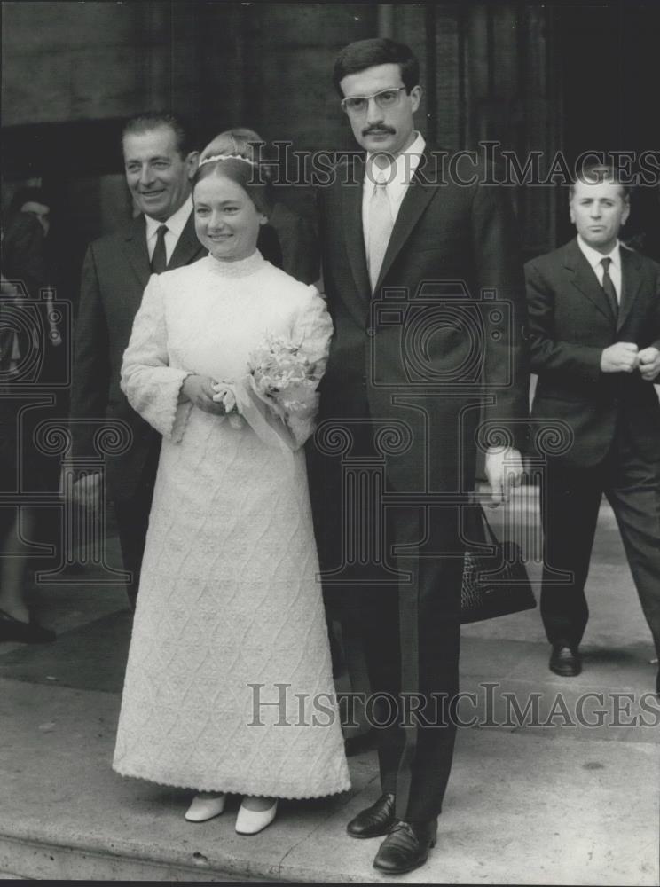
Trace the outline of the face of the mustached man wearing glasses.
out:
<instances>
[{"instance_id":1,"label":"face of the mustached man wearing glasses","mask_svg":"<svg viewBox=\"0 0 660 887\"><path fill-rule=\"evenodd\" d=\"M397 90L403 86L398 65L374 65L358 74L346 75L340 86L344 98L373 96L383 90ZM414 86L410 93L400 90L397 104L379 107L373 98L362 114L349 114L350 126L358 144L366 151L384 152L396 157L414 141L413 114L420 106L421 90Z\"/></svg>"}]
</instances>

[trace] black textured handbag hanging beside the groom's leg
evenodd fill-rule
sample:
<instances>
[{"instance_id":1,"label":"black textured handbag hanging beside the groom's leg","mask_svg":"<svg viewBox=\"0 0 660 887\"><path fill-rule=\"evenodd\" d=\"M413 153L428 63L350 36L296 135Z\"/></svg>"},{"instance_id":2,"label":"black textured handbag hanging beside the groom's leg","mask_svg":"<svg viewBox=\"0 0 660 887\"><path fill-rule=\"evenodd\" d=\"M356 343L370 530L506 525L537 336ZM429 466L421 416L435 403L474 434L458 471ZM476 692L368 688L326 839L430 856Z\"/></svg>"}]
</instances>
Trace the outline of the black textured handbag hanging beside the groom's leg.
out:
<instances>
[{"instance_id":1,"label":"black textured handbag hanging beside the groom's leg","mask_svg":"<svg viewBox=\"0 0 660 887\"><path fill-rule=\"evenodd\" d=\"M477 514L483 538L495 551L491 554L466 551L463 555L460 589L460 622L463 625L520 613L537 605L521 547L515 542L499 542L481 506Z\"/></svg>"}]
</instances>

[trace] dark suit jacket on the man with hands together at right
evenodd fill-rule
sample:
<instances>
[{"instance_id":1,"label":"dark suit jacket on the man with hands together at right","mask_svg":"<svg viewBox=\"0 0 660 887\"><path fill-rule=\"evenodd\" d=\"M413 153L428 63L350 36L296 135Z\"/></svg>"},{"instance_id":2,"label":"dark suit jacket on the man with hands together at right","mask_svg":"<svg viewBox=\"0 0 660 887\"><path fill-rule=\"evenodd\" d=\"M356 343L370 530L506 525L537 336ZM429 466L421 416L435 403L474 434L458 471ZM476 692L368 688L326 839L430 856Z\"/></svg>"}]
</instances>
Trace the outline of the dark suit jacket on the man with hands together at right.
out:
<instances>
[{"instance_id":1,"label":"dark suit jacket on the man with hands together at right","mask_svg":"<svg viewBox=\"0 0 660 887\"><path fill-rule=\"evenodd\" d=\"M577 239L525 265L531 368L538 373L532 416L568 424L574 442L563 458L576 465L604 459L619 420L649 459L660 448L653 384L636 371L601 373L602 351L617 341L660 348L660 265L622 245L621 266L615 319Z\"/></svg>"}]
</instances>

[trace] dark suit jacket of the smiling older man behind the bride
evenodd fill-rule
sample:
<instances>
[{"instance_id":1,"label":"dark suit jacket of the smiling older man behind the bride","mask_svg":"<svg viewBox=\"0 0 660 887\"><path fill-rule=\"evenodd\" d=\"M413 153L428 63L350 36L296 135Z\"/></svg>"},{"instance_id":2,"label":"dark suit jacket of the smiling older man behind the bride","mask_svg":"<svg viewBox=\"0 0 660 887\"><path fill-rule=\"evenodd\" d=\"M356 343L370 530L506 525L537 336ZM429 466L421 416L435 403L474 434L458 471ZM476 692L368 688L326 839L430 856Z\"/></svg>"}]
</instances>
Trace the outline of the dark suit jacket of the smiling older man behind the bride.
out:
<instances>
[{"instance_id":1,"label":"dark suit jacket of the smiling older man behind the bride","mask_svg":"<svg viewBox=\"0 0 660 887\"><path fill-rule=\"evenodd\" d=\"M203 255L206 250L195 235L191 213L168 267L193 263ZM130 426L130 448L107 462L107 477L115 498L129 497L136 489L149 452L160 443L158 434L130 407L120 388L123 352L150 275L144 216L94 240L83 263L71 417L121 419ZM92 423L73 421L71 430L74 455L94 455Z\"/></svg>"}]
</instances>

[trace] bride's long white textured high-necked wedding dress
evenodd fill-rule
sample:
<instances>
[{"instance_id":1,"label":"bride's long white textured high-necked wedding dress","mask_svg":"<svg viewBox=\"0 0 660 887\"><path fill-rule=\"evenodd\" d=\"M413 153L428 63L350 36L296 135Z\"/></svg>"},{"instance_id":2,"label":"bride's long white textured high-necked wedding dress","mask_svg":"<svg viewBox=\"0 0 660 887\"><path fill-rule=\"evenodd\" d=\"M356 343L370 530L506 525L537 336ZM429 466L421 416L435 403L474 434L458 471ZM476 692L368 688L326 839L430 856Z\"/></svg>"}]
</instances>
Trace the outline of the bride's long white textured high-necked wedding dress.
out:
<instances>
[{"instance_id":1,"label":"bride's long white textured high-necked wedding dress","mask_svg":"<svg viewBox=\"0 0 660 887\"><path fill-rule=\"evenodd\" d=\"M303 450L178 403L189 373L244 375L266 333L323 365L332 322L314 287L258 252L209 255L146 287L122 387L163 440L113 766L172 786L319 797L350 780Z\"/></svg>"}]
</instances>

